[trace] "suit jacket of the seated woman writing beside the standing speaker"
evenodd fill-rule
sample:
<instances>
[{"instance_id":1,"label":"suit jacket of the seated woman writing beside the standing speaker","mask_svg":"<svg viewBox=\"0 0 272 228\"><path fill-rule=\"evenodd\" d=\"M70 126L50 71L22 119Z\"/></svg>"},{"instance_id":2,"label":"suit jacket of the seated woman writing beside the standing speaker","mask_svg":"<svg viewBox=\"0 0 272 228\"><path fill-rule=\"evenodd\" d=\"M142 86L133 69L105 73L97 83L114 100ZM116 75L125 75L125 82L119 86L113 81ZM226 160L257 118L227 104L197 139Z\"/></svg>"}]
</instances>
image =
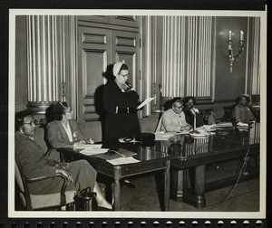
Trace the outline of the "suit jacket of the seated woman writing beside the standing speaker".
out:
<instances>
[{"instance_id":1,"label":"suit jacket of the seated woman writing beside the standing speaker","mask_svg":"<svg viewBox=\"0 0 272 228\"><path fill-rule=\"evenodd\" d=\"M53 120L52 122L48 123L47 128L47 140L51 146L49 149L46 157L60 161L59 154L56 152L56 148L60 147L73 147L73 143L78 140L87 140L86 136L83 134L80 128L78 128L78 124L74 119L69 119L69 125L74 133L76 138L73 138L73 142L69 141L67 133L63 128L62 121L60 120Z\"/></svg>"}]
</instances>

